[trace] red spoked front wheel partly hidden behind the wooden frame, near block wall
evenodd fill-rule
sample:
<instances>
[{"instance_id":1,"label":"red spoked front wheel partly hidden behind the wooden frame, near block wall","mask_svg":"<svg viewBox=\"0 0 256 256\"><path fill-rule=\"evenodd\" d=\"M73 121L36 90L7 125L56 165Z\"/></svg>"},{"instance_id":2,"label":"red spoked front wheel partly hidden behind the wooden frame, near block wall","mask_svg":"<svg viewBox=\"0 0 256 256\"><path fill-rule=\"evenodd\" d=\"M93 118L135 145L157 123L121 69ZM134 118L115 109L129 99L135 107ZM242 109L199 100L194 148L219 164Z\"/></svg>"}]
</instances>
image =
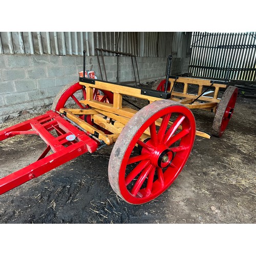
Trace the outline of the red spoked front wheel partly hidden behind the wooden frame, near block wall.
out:
<instances>
[{"instance_id":1,"label":"red spoked front wheel partly hidden behind the wooden frame, near block wall","mask_svg":"<svg viewBox=\"0 0 256 256\"><path fill-rule=\"evenodd\" d=\"M113 93L109 91L100 91L98 89L94 89L93 98L94 100L101 102L113 103ZM76 107L80 109L87 109L88 106L84 106L79 102L79 100L83 99L86 99L86 88L79 84L78 81L69 83L63 87L55 97L52 104L52 110L59 111L61 108L68 108L68 104L75 104ZM83 115L79 117L91 125L94 125L90 115Z\"/></svg>"}]
</instances>

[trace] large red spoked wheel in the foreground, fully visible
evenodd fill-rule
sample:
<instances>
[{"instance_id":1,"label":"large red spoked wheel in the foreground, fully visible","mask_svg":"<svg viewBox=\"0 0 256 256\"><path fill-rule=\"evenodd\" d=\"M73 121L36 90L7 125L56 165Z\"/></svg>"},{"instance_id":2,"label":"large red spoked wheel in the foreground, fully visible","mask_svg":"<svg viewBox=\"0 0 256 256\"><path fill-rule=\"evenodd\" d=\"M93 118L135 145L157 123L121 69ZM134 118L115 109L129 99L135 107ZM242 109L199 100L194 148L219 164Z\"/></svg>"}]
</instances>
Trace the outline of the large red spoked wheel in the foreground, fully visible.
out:
<instances>
[{"instance_id":1,"label":"large red spoked wheel in the foreground, fully visible","mask_svg":"<svg viewBox=\"0 0 256 256\"><path fill-rule=\"evenodd\" d=\"M146 105L124 126L113 147L109 161L113 190L131 204L161 195L185 165L195 133L195 118L186 106L172 100Z\"/></svg>"}]
</instances>

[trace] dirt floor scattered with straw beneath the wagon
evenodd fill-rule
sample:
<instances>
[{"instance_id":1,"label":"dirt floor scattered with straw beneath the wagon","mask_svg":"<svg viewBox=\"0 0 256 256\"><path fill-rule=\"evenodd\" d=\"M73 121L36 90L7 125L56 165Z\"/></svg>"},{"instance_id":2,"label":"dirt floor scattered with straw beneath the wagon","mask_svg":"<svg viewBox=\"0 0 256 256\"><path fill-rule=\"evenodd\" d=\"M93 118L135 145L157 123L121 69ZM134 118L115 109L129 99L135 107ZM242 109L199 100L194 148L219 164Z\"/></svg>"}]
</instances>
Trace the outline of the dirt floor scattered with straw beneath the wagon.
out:
<instances>
[{"instance_id":1,"label":"dirt floor scattered with straw beneath the wagon","mask_svg":"<svg viewBox=\"0 0 256 256\"><path fill-rule=\"evenodd\" d=\"M256 99L239 97L221 138L196 137L175 182L157 199L131 205L108 180L112 146L82 155L0 196L0 223L256 223ZM193 111L211 132L214 114ZM7 120L4 129L31 118ZM30 163L45 144L33 135L0 143L0 177Z\"/></svg>"}]
</instances>

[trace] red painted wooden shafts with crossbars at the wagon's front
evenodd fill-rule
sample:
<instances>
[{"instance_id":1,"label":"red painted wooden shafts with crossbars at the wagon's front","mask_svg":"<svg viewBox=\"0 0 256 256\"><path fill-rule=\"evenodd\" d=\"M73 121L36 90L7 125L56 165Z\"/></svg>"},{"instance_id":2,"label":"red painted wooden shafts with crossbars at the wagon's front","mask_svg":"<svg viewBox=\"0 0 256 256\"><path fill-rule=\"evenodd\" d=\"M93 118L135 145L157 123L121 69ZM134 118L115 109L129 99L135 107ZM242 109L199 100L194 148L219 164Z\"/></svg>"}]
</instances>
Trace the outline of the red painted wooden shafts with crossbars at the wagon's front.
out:
<instances>
[{"instance_id":1,"label":"red painted wooden shafts with crossbars at the wagon's front","mask_svg":"<svg viewBox=\"0 0 256 256\"><path fill-rule=\"evenodd\" d=\"M57 137L50 133L52 130L56 130ZM93 153L99 146L98 141L53 111L1 131L0 141L25 134L40 136L46 142L47 148L36 162L0 179L0 195L84 153ZM69 139L70 135L74 140ZM50 150L53 154L48 155Z\"/></svg>"}]
</instances>

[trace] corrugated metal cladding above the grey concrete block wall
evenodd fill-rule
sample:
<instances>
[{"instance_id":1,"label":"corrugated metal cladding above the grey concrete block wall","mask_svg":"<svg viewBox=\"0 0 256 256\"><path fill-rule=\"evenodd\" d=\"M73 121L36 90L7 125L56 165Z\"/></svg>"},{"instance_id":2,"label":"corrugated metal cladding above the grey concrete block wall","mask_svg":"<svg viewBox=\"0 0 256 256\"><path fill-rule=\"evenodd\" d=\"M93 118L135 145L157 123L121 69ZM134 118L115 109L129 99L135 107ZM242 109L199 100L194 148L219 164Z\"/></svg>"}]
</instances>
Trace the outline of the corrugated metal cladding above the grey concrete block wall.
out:
<instances>
[{"instance_id":1,"label":"corrugated metal cladding above the grey concrete block wall","mask_svg":"<svg viewBox=\"0 0 256 256\"><path fill-rule=\"evenodd\" d=\"M0 54L82 55L86 50L94 56L95 48L102 48L179 58L190 56L190 40L191 32L0 32Z\"/></svg>"}]
</instances>

